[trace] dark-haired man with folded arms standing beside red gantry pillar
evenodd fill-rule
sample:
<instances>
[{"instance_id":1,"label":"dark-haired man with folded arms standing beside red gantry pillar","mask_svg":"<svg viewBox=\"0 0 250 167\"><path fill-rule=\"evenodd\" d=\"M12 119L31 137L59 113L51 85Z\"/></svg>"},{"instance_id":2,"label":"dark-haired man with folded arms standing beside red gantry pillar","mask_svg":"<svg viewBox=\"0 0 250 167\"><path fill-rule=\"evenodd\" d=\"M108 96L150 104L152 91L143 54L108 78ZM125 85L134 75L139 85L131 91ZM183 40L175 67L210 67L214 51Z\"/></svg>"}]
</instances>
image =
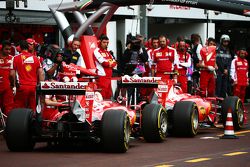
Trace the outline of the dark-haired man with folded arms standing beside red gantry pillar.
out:
<instances>
[{"instance_id":1,"label":"dark-haired man with folded arms standing beside red gantry pillar","mask_svg":"<svg viewBox=\"0 0 250 167\"><path fill-rule=\"evenodd\" d=\"M106 35L102 35L100 37L99 46L94 51L94 60L96 63L97 74L99 75L97 86L102 89L101 94L104 99L110 99L112 96L112 69L117 64L111 53L107 50L108 44L109 38Z\"/></svg>"}]
</instances>

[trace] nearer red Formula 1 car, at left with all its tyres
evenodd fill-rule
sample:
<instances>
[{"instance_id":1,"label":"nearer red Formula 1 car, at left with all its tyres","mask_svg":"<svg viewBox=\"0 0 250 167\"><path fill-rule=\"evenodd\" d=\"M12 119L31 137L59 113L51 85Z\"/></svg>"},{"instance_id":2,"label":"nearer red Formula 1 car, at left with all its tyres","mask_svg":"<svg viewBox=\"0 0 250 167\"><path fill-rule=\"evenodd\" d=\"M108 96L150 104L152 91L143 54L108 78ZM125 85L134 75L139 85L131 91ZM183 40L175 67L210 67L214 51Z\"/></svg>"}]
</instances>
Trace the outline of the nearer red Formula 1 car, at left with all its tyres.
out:
<instances>
[{"instance_id":1,"label":"nearer red Formula 1 car, at left with all its tyres","mask_svg":"<svg viewBox=\"0 0 250 167\"><path fill-rule=\"evenodd\" d=\"M77 66L65 66L69 79ZM70 71L72 69L73 71ZM37 142L64 143L91 140L108 152L126 152L130 135L142 135L148 142L161 142L167 132L167 112L158 103L137 105L128 102L128 94L117 101L103 100L95 86L95 76L81 77L84 82L41 82L37 87L37 109L17 108L7 118L6 143L11 151L32 150ZM88 82L86 82L88 81ZM157 82L121 84L123 89L157 87ZM128 92L128 91L126 91ZM60 96L56 106L44 97ZM59 99L59 98L58 98ZM135 101L137 101L136 98Z\"/></svg>"}]
</instances>

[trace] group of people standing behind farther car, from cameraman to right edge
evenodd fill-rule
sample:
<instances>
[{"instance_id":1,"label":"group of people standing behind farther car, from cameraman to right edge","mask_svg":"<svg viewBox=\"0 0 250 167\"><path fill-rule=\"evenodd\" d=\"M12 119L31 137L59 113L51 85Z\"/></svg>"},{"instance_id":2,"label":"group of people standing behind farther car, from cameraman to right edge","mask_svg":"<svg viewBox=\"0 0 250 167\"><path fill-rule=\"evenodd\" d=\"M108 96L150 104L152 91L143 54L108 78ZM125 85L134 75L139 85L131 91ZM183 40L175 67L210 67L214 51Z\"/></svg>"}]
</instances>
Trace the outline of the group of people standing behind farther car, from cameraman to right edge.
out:
<instances>
[{"instance_id":1,"label":"group of people standing behind farther car, from cameraman to right edge","mask_svg":"<svg viewBox=\"0 0 250 167\"><path fill-rule=\"evenodd\" d=\"M165 35L150 38L146 45L137 42L141 41L141 35L139 37L128 39L119 64L122 75L159 76L167 80L170 76L166 73L176 72L176 82L184 93L192 93L196 84L199 85L199 95L203 97L236 95L244 102L249 85L248 53L244 47L231 50L228 35L223 34L218 44L214 38L208 38L204 46L198 34L192 34L190 40L178 37L173 45ZM144 58L141 56L143 49L147 50ZM134 58L134 50L137 58ZM136 65L131 68L131 64ZM138 64L142 70L136 70Z\"/></svg>"}]
</instances>

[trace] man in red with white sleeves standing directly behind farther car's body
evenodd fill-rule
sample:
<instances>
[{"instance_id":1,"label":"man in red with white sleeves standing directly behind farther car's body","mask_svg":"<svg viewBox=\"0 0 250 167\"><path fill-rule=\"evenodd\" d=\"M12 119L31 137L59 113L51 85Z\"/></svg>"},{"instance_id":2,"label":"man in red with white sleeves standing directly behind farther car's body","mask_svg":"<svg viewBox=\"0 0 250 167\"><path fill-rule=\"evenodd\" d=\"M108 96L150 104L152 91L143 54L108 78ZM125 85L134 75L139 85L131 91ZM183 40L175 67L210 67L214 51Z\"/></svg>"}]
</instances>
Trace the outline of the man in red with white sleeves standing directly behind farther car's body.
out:
<instances>
[{"instance_id":1,"label":"man in red with white sleeves standing directly behind farther car's body","mask_svg":"<svg viewBox=\"0 0 250 167\"><path fill-rule=\"evenodd\" d=\"M187 68L191 66L191 55L187 52L186 42L184 40L179 41L177 46L177 54L179 58L178 69L178 82L181 84L181 89L184 93L187 93Z\"/></svg>"}]
</instances>

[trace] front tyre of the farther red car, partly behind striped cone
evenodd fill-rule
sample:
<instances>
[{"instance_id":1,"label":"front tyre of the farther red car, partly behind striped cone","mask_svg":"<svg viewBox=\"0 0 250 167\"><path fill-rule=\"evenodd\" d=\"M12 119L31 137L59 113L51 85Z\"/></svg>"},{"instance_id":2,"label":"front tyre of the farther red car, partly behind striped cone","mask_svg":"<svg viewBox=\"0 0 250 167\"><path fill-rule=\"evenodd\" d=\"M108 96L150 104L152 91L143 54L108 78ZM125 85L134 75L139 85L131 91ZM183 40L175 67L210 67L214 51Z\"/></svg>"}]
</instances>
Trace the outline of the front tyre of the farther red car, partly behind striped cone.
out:
<instances>
[{"instance_id":1,"label":"front tyre of the farther red car, partly behind striped cone","mask_svg":"<svg viewBox=\"0 0 250 167\"><path fill-rule=\"evenodd\" d=\"M234 130L243 128L244 125L244 108L243 103L237 96L229 96L222 101L221 119L223 125L226 124L228 109L232 109L232 118Z\"/></svg>"}]
</instances>

